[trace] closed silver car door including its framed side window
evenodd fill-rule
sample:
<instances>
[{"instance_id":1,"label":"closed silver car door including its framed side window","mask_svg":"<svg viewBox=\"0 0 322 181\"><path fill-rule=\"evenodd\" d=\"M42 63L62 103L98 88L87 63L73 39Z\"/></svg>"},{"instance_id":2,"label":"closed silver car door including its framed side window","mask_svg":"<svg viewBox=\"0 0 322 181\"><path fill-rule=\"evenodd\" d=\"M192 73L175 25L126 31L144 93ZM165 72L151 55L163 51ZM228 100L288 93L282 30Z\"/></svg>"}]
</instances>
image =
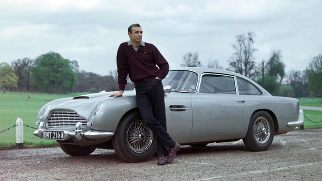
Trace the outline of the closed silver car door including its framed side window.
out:
<instances>
[{"instance_id":1,"label":"closed silver car door including its framed side window","mask_svg":"<svg viewBox=\"0 0 322 181\"><path fill-rule=\"evenodd\" d=\"M245 100L238 95L234 76L203 74L198 93L190 97L193 136L230 139L229 134L241 133L241 126L245 124ZM227 136L209 136L222 134Z\"/></svg>"}]
</instances>

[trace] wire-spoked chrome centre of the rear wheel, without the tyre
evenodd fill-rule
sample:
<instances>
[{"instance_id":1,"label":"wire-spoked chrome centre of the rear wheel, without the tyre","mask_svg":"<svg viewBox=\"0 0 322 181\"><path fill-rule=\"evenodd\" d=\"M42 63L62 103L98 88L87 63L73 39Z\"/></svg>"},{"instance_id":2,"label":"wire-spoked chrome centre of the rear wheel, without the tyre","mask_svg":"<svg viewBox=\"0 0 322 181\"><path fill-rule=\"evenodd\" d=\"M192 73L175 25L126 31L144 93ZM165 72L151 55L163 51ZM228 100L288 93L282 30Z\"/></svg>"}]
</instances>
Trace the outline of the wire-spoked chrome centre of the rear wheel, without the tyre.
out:
<instances>
[{"instance_id":1,"label":"wire-spoked chrome centre of the rear wheel, without the tyre","mask_svg":"<svg viewBox=\"0 0 322 181\"><path fill-rule=\"evenodd\" d=\"M269 122L265 117L259 117L254 124L254 137L259 143L266 143L270 136Z\"/></svg>"}]
</instances>

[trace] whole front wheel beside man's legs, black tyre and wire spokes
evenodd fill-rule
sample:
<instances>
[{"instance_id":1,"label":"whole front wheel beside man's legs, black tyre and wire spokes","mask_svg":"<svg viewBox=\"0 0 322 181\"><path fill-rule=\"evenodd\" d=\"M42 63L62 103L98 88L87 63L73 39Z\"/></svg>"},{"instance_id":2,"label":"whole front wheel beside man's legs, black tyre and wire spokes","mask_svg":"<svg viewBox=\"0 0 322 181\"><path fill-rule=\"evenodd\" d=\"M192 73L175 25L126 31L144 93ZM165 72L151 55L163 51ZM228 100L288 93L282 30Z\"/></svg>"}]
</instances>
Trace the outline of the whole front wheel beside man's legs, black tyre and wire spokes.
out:
<instances>
[{"instance_id":1,"label":"whole front wheel beside man's legs, black tyre and wire spokes","mask_svg":"<svg viewBox=\"0 0 322 181\"><path fill-rule=\"evenodd\" d=\"M126 162L144 162L151 159L157 150L154 133L142 121L138 112L125 115L112 138L113 149Z\"/></svg>"}]
</instances>

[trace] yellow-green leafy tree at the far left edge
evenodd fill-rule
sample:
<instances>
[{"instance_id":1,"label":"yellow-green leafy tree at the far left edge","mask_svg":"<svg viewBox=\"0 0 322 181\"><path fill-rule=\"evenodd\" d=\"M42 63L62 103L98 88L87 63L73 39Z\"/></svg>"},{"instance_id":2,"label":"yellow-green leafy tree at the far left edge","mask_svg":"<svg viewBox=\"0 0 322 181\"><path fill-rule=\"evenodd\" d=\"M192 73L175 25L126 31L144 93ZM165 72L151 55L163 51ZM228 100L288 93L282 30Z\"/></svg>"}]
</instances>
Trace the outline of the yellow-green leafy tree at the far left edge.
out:
<instances>
[{"instance_id":1,"label":"yellow-green leafy tree at the far left edge","mask_svg":"<svg viewBox=\"0 0 322 181\"><path fill-rule=\"evenodd\" d=\"M8 88L16 88L18 77L14 74L13 68L7 63L0 63L0 89L3 93Z\"/></svg>"}]
</instances>

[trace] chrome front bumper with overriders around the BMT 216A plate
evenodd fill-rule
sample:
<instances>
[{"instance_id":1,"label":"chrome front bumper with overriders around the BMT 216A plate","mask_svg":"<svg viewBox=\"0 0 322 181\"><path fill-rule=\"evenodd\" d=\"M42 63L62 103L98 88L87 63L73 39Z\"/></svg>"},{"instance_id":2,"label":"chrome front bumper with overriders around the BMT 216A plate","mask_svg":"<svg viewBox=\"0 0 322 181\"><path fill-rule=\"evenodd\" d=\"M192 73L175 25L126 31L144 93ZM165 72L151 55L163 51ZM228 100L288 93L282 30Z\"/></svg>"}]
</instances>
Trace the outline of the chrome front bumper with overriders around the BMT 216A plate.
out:
<instances>
[{"instance_id":1,"label":"chrome front bumper with overriders around the BMT 216A plate","mask_svg":"<svg viewBox=\"0 0 322 181\"><path fill-rule=\"evenodd\" d=\"M35 136L43 138L44 131L62 131L64 134L64 139L60 139L60 140L67 140L70 138L76 138L77 140L81 140L82 138L96 140L96 139L102 139L102 138L114 136L114 132L104 132L104 131L94 131L94 130L83 131L79 128L80 128L79 125L76 124L75 132L68 132L68 131L64 131L64 130L45 130L44 123L41 122L39 125L39 129L34 131L33 134Z\"/></svg>"}]
</instances>

